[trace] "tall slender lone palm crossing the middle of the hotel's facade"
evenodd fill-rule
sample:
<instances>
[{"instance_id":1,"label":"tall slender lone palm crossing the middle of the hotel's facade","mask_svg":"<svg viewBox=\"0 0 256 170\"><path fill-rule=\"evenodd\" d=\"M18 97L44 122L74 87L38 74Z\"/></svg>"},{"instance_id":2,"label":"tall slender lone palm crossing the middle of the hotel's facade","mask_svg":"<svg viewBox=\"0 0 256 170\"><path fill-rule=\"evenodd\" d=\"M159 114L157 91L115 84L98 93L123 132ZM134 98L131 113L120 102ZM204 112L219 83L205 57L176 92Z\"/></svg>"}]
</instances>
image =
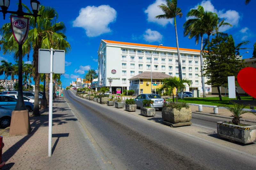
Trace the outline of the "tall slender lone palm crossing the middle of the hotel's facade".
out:
<instances>
[{"instance_id":1,"label":"tall slender lone palm crossing the middle of the hotel's facade","mask_svg":"<svg viewBox=\"0 0 256 170\"><path fill-rule=\"evenodd\" d=\"M181 72L181 58L180 58L180 49L178 42L178 33L177 33L177 25L176 25L176 16L182 17L181 9L177 7L177 0L166 0L166 5L161 4L158 7L164 12L162 15L157 15L157 19L174 19L174 28L176 35L176 45L178 52L178 66L179 66L179 77L182 80L182 72Z\"/></svg>"}]
</instances>

